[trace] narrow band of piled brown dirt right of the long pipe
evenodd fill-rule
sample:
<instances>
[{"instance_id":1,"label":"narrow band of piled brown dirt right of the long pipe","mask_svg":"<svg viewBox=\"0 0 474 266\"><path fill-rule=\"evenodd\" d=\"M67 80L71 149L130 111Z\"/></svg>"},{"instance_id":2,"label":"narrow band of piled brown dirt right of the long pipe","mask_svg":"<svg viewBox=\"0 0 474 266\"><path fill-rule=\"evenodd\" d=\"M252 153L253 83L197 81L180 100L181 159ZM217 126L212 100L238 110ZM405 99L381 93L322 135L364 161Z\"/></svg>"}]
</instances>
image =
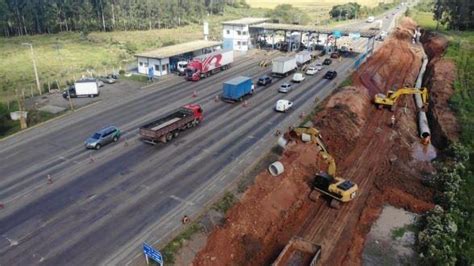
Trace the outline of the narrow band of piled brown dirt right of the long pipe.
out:
<instances>
[{"instance_id":1,"label":"narrow band of piled brown dirt right of the long pipe","mask_svg":"<svg viewBox=\"0 0 474 266\"><path fill-rule=\"evenodd\" d=\"M446 147L449 142L458 140L460 134L456 116L448 104L454 94L456 65L449 59L441 58L448 46L445 37L425 33L422 41L430 58L424 86L430 92L428 118L433 132L432 140L437 147Z\"/></svg>"}]
</instances>

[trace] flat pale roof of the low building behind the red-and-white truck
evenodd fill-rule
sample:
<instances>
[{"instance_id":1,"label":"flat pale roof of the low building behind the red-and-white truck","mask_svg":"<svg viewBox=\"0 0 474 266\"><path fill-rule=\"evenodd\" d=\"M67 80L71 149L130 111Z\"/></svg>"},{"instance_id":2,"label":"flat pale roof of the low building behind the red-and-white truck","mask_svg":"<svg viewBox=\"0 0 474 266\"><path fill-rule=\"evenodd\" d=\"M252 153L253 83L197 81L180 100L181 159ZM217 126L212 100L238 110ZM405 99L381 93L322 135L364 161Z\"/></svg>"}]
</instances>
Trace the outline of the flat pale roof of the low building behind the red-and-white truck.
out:
<instances>
[{"instance_id":1,"label":"flat pale roof of the low building behind the red-and-white truck","mask_svg":"<svg viewBox=\"0 0 474 266\"><path fill-rule=\"evenodd\" d=\"M218 46L221 44L222 42L198 40L198 41L185 42L185 43L180 43L176 45L161 47L156 50L135 54L135 56L163 59L163 58L168 58L168 57L172 57L172 56L176 56L176 55L180 55L184 53L189 53L189 52L204 49L204 48Z\"/></svg>"}]
</instances>

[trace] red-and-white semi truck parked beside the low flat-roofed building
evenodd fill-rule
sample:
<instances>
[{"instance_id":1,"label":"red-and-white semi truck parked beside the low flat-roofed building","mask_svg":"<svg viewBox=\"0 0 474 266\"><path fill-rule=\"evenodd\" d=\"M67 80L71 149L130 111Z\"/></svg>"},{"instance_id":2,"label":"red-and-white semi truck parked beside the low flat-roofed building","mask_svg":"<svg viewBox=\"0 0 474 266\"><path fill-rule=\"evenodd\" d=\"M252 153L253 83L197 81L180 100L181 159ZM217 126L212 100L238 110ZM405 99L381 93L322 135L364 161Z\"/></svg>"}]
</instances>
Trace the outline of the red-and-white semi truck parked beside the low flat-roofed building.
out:
<instances>
[{"instance_id":1,"label":"red-and-white semi truck parked beside the low flat-roofed building","mask_svg":"<svg viewBox=\"0 0 474 266\"><path fill-rule=\"evenodd\" d=\"M221 70L226 70L234 62L233 50L221 50L194 57L186 66L187 80L198 81Z\"/></svg>"}]
</instances>

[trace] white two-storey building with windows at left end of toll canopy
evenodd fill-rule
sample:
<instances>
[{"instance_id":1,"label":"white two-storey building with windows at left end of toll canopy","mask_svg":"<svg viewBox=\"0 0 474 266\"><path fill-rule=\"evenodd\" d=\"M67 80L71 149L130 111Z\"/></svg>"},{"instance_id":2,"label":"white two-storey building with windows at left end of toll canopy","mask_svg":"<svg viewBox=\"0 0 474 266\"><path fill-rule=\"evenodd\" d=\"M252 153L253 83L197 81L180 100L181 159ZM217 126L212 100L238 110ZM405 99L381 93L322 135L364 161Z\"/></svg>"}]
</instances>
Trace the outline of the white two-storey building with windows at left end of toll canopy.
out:
<instances>
[{"instance_id":1,"label":"white two-storey building with windows at left end of toll canopy","mask_svg":"<svg viewBox=\"0 0 474 266\"><path fill-rule=\"evenodd\" d=\"M249 31L249 26L269 21L269 18L242 18L223 22L223 47L236 51L247 51L254 47L256 36Z\"/></svg>"}]
</instances>

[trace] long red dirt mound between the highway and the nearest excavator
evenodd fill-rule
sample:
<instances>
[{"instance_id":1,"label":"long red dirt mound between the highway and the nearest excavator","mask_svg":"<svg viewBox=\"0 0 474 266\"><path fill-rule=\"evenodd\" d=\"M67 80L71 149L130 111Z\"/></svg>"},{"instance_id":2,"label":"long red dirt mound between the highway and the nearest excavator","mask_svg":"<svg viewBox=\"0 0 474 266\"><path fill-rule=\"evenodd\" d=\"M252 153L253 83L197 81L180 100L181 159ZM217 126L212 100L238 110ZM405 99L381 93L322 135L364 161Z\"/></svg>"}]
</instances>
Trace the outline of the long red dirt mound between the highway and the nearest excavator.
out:
<instances>
[{"instance_id":1,"label":"long red dirt mound between the highway and the nearest excavator","mask_svg":"<svg viewBox=\"0 0 474 266\"><path fill-rule=\"evenodd\" d=\"M315 146L292 145L281 162L285 172L257 176L193 265L265 265L278 256L311 208L306 197L309 178L317 170Z\"/></svg>"}]
</instances>

